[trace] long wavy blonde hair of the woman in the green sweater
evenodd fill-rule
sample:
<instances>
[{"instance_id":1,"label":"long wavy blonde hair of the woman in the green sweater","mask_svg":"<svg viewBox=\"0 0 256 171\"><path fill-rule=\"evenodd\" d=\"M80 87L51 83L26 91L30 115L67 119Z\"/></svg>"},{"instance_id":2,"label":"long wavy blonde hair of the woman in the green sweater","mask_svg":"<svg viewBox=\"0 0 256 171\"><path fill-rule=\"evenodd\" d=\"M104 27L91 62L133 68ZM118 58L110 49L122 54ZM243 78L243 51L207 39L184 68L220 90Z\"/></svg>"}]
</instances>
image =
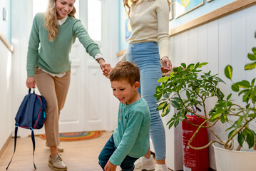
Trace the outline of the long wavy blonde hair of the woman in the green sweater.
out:
<instances>
[{"instance_id":1,"label":"long wavy blonde hair of the woman in the green sweater","mask_svg":"<svg viewBox=\"0 0 256 171\"><path fill-rule=\"evenodd\" d=\"M48 31L48 39L53 42L58 35L58 20L56 12L56 0L49 0L47 10L44 13L44 26L46 31ZM68 16L75 18L76 8L73 6L73 10Z\"/></svg>"}]
</instances>

